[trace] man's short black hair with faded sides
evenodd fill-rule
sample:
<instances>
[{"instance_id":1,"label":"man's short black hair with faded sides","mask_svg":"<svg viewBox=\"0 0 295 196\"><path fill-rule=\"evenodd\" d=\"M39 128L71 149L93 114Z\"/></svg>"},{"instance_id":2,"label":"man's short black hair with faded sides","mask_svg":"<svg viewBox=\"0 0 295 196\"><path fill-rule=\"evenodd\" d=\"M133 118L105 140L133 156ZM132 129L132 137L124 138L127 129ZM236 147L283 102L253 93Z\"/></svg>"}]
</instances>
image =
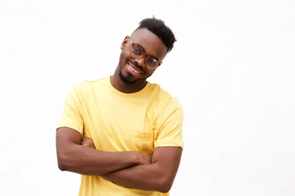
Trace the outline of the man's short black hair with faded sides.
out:
<instances>
[{"instance_id":1,"label":"man's short black hair with faded sides","mask_svg":"<svg viewBox=\"0 0 295 196\"><path fill-rule=\"evenodd\" d=\"M177 41L172 30L165 25L165 22L156 18L147 18L142 20L139 23L137 29L146 28L158 38L162 40L166 48L168 49L167 53L173 49L174 43Z\"/></svg>"}]
</instances>

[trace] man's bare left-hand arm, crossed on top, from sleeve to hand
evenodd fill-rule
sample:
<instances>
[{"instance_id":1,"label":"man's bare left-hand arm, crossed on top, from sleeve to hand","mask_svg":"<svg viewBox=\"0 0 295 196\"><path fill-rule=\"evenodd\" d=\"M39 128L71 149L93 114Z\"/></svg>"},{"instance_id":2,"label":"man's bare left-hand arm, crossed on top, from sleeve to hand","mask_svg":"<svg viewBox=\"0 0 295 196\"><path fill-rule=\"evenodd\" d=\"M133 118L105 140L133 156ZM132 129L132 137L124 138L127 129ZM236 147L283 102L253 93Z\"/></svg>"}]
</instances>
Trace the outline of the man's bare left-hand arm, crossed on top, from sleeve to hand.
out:
<instances>
[{"instance_id":1,"label":"man's bare left-hand arm, crossed on top, from sleeve to hand","mask_svg":"<svg viewBox=\"0 0 295 196\"><path fill-rule=\"evenodd\" d=\"M93 146L85 142L78 131L68 127L58 128L56 147L59 169L83 175L101 175L151 163L151 156L141 152L106 152L91 148Z\"/></svg>"}]
</instances>

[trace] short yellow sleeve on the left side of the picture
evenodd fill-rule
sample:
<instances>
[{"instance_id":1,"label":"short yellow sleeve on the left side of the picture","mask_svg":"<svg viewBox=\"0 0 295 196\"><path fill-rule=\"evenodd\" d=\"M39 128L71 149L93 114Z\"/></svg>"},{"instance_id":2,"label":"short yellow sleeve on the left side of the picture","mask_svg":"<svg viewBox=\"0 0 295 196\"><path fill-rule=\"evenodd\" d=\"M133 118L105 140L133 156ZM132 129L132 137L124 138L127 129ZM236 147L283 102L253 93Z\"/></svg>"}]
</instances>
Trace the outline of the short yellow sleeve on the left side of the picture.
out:
<instances>
[{"instance_id":1,"label":"short yellow sleeve on the left side of the picture","mask_svg":"<svg viewBox=\"0 0 295 196\"><path fill-rule=\"evenodd\" d=\"M80 114L81 101L75 86L66 94L64 99L63 111L58 127L69 127L83 134L83 120Z\"/></svg>"}]
</instances>

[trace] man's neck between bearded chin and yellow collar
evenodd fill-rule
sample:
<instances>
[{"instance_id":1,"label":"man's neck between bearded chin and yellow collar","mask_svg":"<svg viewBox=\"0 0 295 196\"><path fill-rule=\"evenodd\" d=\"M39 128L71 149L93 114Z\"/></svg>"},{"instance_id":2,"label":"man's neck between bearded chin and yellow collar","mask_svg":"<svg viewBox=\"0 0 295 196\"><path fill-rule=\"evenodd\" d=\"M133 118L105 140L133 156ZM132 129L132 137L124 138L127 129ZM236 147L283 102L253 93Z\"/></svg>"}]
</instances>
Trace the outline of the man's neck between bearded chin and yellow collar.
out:
<instances>
[{"instance_id":1,"label":"man's neck between bearded chin and yellow collar","mask_svg":"<svg viewBox=\"0 0 295 196\"><path fill-rule=\"evenodd\" d=\"M121 81L118 69L116 69L115 73L111 76L111 84L115 89L122 93L136 93L145 88L147 81L140 81L136 84L125 84Z\"/></svg>"}]
</instances>

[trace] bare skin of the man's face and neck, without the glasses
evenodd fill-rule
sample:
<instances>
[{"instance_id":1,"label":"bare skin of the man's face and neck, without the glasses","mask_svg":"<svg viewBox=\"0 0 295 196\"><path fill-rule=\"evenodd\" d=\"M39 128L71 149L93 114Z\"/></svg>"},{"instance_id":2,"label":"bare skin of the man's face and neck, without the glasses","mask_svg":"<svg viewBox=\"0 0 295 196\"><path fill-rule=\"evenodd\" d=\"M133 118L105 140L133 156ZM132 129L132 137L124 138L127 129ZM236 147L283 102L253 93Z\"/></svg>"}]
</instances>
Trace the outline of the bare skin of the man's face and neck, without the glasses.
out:
<instances>
[{"instance_id":1,"label":"bare skin of the man's face and neck, without the glasses","mask_svg":"<svg viewBox=\"0 0 295 196\"><path fill-rule=\"evenodd\" d=\"M167 48L163 42L153 33L147 29L138 29L132 33L131 39L133 43L140 44L144 49L144 52L149 55L156 57L159 62L162 62L167 54ZM147 84L147 78L150 77L156 69L150 70L145 66L145 56L140 59L133 58L130 54L131 41L129 36L126 36L123 40L120 49L122 49L119 64L115 70L114 75L111 76L111 83L118 91L123 93L135 93L142 90ZM128 64L133 66L141 74L132 76L128 69ZM120 69L121 68L121 69ZM130 83L124 83L119 73L125 77L129 77Z\"/></svg>"}]
</instances>

